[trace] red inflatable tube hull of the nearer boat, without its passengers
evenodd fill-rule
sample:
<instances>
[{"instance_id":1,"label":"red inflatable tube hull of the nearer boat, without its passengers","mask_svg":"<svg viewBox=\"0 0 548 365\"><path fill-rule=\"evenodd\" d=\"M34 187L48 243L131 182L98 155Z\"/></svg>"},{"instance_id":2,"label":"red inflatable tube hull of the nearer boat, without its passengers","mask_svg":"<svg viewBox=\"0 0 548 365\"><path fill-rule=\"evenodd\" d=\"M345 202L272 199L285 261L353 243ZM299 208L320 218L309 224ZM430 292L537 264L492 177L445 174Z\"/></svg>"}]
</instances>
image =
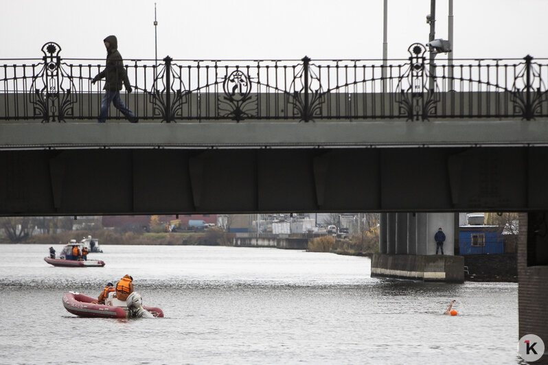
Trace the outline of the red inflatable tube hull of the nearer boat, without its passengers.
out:
<instances>
[{"instance_id":1,"label":"red inflatable tube hull of the nearer boat, without its passengers","mask_svg":"<svg viewBox=\"0 0 548 365\"><path fill-rule=\"evenodd\" d=\"M140 299L140 296L139 296ZM91 298L77 292L68 292L62 296L62 304L71 314L76 314L79 317L101 317L101 318L135 318L135 311L128 307L122 306L126 302L119 302L120 306L103 305L91 303L97 301L97 298ZM163 317L163 311L157 307L141 306L142 309L148 311L154 317ZM143 316L141 316L143 317Z\"/></svg>"}]
</instances>

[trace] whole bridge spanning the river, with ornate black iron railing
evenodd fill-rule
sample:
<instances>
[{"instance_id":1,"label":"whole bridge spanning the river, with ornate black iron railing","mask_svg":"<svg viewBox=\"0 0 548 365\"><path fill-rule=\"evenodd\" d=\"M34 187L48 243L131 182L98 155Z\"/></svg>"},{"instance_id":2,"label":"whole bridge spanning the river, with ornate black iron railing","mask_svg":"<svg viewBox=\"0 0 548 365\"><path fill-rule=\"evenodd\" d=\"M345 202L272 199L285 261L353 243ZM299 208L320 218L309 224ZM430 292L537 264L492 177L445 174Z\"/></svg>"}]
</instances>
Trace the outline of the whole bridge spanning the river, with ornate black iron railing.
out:
<instances>
[{"instance_id":1,"label":"whole bridge spanning the river, with ornate black iron railing","mask_svg":"<svg viewBox=\"0 0 548 365\"><path fill-rule=\"evenodd\" d=\"M424 222L521 211L520 332L548 343L548 60L408 51L126 60L137 124L97 123L104 60L1 60L0 215L378 211L387 273L431 255Z\"/></svg>"}]
</instances>

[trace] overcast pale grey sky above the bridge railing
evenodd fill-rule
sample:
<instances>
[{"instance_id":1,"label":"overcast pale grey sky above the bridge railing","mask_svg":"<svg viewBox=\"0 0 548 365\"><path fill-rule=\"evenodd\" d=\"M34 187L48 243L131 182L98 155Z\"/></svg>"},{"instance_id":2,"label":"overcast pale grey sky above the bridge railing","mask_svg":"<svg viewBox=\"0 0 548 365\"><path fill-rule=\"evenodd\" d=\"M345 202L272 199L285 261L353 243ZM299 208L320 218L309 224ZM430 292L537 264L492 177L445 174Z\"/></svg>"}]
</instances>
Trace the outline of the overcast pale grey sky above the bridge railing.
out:
<instances>
[{"instance_id":1,"label":"overcast pale grey sky above the bridge railing","mask_svg":"<svg viewBox=\"0 0 548 365\"><path fill-rule=\"evenodd\" d=\"M0 58L38 58L54 40L65 58L104 58L115 34L124 58L382 58L383 0L3 0ZM430 0L389 0L388 56L428 42ZM548 0L455 0L455 58L548 57ZM448 38L437 0L436 38Z\"/></svg>"}]
</instances>

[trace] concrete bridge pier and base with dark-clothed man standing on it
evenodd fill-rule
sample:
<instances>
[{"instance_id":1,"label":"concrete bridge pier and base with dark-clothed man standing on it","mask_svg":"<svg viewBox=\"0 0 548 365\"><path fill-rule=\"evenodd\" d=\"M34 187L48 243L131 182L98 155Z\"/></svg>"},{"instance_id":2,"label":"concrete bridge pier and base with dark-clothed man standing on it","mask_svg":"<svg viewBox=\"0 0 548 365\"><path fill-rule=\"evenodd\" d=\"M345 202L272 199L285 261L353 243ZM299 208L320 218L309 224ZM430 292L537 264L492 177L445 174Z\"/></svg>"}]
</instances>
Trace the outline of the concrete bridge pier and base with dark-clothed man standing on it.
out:
<instances>
[{"instance_id":1,"label":"concrete bridge pier and base with dark-clothed man standing on it","mask_svg":"<svg viewBox=\"0 0 548 365\"><path fill-rule=\"evenodd\" d=\"M439 227L446 235L444 255L436 255L434 235ZM464 257L454 255L454 213L383 213L380 242L372 276L464 282Z\"/></svg>"}]
</instances>

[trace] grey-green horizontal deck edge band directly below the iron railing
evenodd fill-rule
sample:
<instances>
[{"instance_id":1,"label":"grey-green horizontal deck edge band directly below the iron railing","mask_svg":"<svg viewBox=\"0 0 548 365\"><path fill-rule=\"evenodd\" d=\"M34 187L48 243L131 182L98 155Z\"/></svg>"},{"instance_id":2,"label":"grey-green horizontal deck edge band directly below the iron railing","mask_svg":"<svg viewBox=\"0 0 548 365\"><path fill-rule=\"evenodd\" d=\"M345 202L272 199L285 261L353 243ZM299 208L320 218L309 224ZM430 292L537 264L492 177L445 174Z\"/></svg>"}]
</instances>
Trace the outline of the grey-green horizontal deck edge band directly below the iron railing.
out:
<instances>
[{"instance_id":1,"label":"grey-green horizontal deck edge band directly below the iron railing","mask_svg":"<svg viewBox=\"0 0 548 365\"><path fill-rule=\"evenodd\" d=\"M548 145L548 121L0 123L0 149L387 148Z\"/></svg>"}]
</instances>

